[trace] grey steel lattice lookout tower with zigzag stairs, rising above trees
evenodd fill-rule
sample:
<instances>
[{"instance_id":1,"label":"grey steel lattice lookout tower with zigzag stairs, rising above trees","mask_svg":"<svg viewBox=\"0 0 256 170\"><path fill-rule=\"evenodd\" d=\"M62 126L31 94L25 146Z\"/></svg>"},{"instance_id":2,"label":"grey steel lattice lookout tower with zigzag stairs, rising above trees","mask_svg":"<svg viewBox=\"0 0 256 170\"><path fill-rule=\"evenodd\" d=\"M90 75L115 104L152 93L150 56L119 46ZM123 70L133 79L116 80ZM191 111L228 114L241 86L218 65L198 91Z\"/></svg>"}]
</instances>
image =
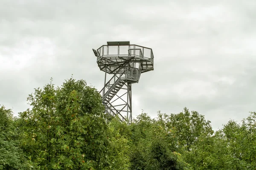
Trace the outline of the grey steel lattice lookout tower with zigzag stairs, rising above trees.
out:
<instances>
[{"instance_id":1,"label":"grey steel lattice lookout tower with zigzag stairs, rising above trees","mask_svg":"<svg viewBox=\"0 0 256 170\"><path fill-rule=\"evenodd\" d=\"M107 42L93 52L100 70L105 72L104 88L100 91L105 112L130 124L131 84L139 82L140 74L154 70L152 49L117 41ZM107 73L113 75L108 82Z\"/></svg>"}]
</instances>

